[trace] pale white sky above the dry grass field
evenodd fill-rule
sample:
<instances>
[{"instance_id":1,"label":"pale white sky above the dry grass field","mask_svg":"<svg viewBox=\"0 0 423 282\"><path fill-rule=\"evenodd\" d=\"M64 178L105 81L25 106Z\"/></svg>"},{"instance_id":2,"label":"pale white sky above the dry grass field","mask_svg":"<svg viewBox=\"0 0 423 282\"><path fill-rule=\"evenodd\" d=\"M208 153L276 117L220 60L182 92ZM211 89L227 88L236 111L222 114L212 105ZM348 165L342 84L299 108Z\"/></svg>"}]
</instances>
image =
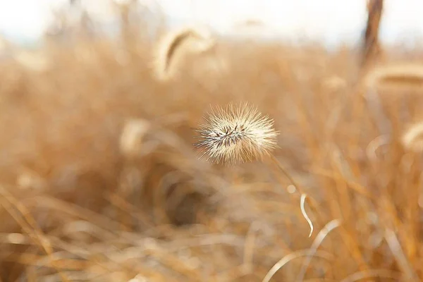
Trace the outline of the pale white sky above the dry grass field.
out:
<instances>
[{"instance_id":1,"label":"pale white sky above the dry grass field","mask_svg":"<svg viewBox=\"0 0 423 282\"><path fill-rule=\"evenodd\" d=\"M106 0L85 1L100 20L111 20ZM119 0L125 1L125 0ZM152 4L154 0L140 0ZM365 0L157 0L177 25L202 23L231 34L234 25L259 20L268 32L284 37L329 41L357 39L366 19ZM51 20L49 5L66 0L0 0L0 33L36 39ZM422 0L386 0L381 37L393 42L423 35ZM239 32L239 30L238 30Z\"/></svg>"}]
</instances>

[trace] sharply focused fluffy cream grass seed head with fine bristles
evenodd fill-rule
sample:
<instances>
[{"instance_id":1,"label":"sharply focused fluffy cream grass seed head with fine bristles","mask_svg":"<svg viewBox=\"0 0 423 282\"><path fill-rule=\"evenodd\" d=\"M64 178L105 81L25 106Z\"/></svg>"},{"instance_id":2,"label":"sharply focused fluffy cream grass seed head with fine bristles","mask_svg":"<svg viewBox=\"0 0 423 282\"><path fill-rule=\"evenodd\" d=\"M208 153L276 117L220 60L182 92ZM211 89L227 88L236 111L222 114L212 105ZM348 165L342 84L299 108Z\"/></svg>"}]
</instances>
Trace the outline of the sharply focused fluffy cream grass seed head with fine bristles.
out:
<instances>
[{"instance_id":1,"label":"sharply focused fluffy cream grass seed head with fine bristles","mask_svg":"<svg viewBox=\"0 0 423 282\"><path fill-rule=\"evenodd\" d=\"M212 163L238 164L262 159L276 146L274 121L247 103L212 108L197 133L200 158Z\"/></svg>"}]
</instances>

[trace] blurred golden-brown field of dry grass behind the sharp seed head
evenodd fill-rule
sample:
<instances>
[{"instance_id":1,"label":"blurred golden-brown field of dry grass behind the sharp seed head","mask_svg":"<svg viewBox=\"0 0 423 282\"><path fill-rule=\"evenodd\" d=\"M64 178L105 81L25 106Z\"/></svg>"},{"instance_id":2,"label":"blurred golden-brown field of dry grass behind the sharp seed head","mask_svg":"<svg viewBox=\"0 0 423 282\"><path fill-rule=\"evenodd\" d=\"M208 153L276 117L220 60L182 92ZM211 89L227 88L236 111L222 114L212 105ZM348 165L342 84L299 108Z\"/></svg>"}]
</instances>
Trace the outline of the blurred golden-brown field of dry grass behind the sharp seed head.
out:
<instances>
[{"instance_id":1,"label":"blurred golden-brown field of dry grass behind the sharp seed head","mask_svg":"<svg viewBox=\"0 0 423 282\"><path fill-rule=\"evenodd\" d=\"M363 72L347 47L209 36L1 61L1 281L421 281L421 53ZM269 159L197 158L204 112L241 101L298 187Z\"/></svg>"}]
</instances>

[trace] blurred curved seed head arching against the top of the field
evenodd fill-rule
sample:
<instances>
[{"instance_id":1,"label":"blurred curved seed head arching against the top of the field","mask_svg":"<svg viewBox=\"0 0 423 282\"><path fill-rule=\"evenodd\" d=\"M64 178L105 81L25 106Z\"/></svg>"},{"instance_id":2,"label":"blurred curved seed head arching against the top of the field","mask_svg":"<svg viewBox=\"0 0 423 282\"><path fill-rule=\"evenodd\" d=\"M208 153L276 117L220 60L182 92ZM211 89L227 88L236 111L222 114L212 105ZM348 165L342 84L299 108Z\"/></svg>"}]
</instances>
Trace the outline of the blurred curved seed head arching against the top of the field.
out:
<instances>
[{"instance_id":1,"label":"blurred curved seed head arching against the top of the field","mask_svg":"<svg viewBox=\"0 0 423 282\"><path fill-rule=\"evenodd\" d=\"M154 55L154 72L160 80L168 80L176 74L178 63L186 51L203 52L215 44L209 30L200 27L183 27L168 32L159 41Z\"/></svg>"}]
</instances>

